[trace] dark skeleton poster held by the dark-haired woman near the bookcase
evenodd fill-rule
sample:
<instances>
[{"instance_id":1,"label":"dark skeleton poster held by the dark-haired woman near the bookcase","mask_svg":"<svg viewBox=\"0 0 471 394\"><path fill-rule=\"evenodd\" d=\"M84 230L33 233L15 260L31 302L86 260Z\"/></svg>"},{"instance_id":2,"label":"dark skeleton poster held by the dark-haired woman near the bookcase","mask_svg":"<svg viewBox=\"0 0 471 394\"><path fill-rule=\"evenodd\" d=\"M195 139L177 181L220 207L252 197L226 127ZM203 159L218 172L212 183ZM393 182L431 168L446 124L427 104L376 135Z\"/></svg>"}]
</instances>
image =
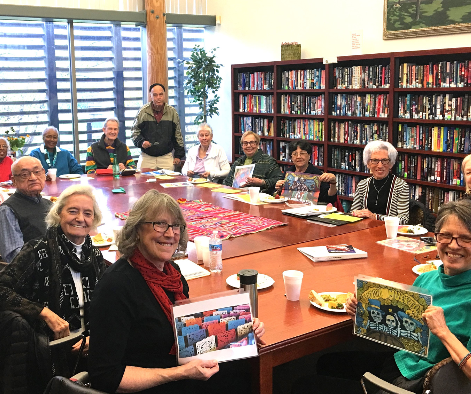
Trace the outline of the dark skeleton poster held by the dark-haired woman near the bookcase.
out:
<instances>
[{"instance_id":1,"label":"dark skeleton poster held by the dark-haired woman near the bookcase","mask_svg":"<svg viewBox=\"0 0 471 394\"><path fill-rule=\"evenodd\" d=\"M318 175L287 172L281 196L293 201L317 204L321 182Z\"/></svg>"}]
</instances>

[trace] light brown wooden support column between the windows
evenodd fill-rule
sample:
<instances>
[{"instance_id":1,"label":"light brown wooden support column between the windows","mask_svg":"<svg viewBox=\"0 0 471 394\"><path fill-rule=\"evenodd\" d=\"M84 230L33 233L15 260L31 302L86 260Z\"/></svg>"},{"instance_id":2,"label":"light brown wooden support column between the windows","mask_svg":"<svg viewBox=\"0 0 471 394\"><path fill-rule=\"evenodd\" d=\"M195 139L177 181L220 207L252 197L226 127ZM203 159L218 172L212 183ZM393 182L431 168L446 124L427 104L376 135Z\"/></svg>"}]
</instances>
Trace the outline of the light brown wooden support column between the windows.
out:
<instances>
[{"instance_id":1,"label":"light brown wooden support column between the windows","mask_svg":"<svg viewBox=\"0 0 471 394\"><path fill-rule=\"evenodd\" d=\"M145 9L147 13L147 93L148 86L153 83L161 83L168 93L165 0L145 0ZM150 101L148 94L147 101Z\"/></svg>"}]
</instances>

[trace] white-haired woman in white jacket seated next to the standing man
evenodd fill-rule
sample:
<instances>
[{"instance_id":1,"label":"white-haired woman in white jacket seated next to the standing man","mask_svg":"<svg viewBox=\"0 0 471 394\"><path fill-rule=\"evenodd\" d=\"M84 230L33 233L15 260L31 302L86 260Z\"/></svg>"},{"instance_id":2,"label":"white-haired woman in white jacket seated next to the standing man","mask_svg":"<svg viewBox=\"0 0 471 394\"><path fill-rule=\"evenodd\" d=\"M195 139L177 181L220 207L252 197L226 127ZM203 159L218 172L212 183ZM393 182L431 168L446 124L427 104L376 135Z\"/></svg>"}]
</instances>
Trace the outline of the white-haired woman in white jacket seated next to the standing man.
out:
<instances>
[{"instance_id":1,"label":"white-haired woman in white jacket seated next to the standing man","mask_svg":"<svg viewBox=\"0 0 471 394\"><path fill-rule=\"evenodd\" d=\"M188 150L182 174L209 180L225 178L230 171L229 160L224 149L212 142L212 128L209 124L199 125L198 139L199 145Z\"/></svg>"}]
</instances>

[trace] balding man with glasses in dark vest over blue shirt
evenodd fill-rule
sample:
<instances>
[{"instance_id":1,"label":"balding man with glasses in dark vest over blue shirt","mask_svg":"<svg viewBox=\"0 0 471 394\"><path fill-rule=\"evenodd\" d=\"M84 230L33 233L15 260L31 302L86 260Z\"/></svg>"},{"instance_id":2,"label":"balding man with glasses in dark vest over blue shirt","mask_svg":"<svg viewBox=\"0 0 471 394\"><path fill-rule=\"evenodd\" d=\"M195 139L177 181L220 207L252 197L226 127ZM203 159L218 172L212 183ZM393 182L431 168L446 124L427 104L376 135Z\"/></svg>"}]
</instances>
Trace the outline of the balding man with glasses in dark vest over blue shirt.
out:
<instances>
[{"instance_id":1,"label":"balding man with glasses in dark vest over blue shirt","mask_svg":"<svg viewBox=\"0 0 471 394\"><path fill-rule=\"evenodd\" d=\"M0 255L10 263L22 246L46 233L52 202L41 198L46 173L41 161L23 156L12 164L15 193L0 205Z\"/></svg>"}]
</instances>

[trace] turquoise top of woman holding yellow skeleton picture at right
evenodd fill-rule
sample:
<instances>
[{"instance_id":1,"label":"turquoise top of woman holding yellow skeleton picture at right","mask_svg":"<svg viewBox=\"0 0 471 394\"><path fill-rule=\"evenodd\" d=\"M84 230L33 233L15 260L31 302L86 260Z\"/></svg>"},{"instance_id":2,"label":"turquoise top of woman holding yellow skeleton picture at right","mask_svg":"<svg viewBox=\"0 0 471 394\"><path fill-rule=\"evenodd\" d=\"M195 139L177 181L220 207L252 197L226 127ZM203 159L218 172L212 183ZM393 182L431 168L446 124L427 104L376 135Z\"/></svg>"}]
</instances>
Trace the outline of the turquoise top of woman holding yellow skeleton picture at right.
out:
<instances>
[{"instance_id":1,"label":"turquoise top of woman holding yellow skeleton picture at right","mask_svg":"<svg viewBox=\"0 0 471 394\"><path fill-rule=\"evenodd\" d=\"M455 276L445 275L443 265L420 275L414 286L426 288L433 295L432 304L445 313L446 325L459 341L471 350L471 270ZM402 375L419 379L437 362L450 356L438 337L430 332L428 358L398 351L394 358Z\"/></svg>"}]
</instances>

